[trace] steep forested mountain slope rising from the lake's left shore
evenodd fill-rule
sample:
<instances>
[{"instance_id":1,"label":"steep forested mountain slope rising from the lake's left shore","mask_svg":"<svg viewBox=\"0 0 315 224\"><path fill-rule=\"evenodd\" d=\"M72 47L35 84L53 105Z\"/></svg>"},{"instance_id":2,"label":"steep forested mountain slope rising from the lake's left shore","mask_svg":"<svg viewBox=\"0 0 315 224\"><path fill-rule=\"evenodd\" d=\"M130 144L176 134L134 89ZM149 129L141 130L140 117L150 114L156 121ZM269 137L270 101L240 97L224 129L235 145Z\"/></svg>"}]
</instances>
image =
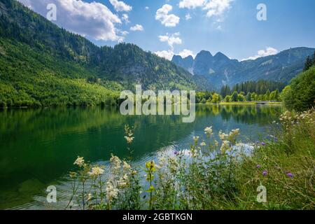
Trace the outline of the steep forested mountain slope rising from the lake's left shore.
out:
<instances>
[{"instance_id":1,"label":"steep forested mountain slope rising from the lake's left shore","mask_svg":"<svg viewBox=\"0 0 315 224\"><path fill-rule=\"evenodd\" d=\"M134 84L197 88L188 71L166 59L126 43L99 48L15 0L0 1L0 56L6 106L113 103L115 90Z\"/></svg>"}]
</instances>

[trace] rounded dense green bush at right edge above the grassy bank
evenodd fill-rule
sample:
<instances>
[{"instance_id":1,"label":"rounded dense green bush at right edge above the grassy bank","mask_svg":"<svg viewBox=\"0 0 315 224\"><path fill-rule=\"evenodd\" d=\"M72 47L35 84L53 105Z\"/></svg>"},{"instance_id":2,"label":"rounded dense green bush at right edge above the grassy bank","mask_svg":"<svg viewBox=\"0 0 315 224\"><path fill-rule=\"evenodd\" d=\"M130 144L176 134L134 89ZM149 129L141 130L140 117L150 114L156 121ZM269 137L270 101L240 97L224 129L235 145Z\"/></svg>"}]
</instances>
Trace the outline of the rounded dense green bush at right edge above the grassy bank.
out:
<instances>
[{"instance_id":1,"label":"rounded dense green bush at right edge above the grassy bank","mask_svg":"<svg viewBox=\"0 0 315 224\"><path fill-rule=\"evenodd\" d=\"M283 90L282 98L290 110L306 111L315 106L315 66L293 78L290 87Z\"/></svg>"}]
</instances>

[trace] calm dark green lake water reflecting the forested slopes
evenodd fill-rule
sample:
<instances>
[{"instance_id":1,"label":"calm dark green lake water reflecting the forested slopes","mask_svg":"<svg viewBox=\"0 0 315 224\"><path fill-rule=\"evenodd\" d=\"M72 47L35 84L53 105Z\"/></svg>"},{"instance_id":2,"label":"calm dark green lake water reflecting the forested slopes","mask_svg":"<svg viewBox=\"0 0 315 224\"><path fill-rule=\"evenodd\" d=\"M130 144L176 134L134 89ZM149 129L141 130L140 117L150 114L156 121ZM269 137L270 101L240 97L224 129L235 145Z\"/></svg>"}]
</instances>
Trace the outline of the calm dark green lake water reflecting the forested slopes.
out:
<instances>
[{"instance_id":1,"label":"calm dark green lake water reflecting the forested slopes","mask_svg":"<svg viewBox=\"0 0 315 224\"><path fill-rule=\"evenodd\" d=\"M106 164L111 153L129 155L124 126L136 127L134 163L143 165L161 151L183 150L204 127L239 128L244 143L264 139L281 106L197 106L194 123L180 116L121 116L117 109L0 111L0 209L64 209L45 202L45 189L69 190L68 174L78 155Z\"/></svg>"}]
</instances>

